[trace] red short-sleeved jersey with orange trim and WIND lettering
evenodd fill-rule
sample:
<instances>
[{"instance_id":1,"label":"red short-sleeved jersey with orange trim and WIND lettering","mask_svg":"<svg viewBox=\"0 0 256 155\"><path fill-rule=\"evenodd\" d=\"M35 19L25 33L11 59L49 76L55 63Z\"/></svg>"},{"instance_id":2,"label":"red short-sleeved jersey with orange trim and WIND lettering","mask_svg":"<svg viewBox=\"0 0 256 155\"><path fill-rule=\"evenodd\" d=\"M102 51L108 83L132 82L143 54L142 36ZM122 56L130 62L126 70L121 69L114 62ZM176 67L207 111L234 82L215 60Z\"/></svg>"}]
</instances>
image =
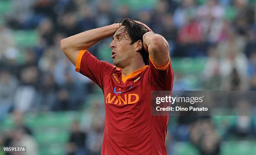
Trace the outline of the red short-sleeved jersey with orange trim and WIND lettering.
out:
<instances>
[{"instance_id":1,"label":"red short-sleeved jersey with orange trim and WIND lettering","mask_svg":"<svg viewBox=\"0 0 256 155\"><path fill-rule=\"evenodd\" d=\"M170 63L149 66L128 76L122 70L80 51L76 71L100 86L105 101L102 155L167 155L165 137L169 116L151 115L151 91L171 91L174 74Z\"/></svg>"}]
</instances>

